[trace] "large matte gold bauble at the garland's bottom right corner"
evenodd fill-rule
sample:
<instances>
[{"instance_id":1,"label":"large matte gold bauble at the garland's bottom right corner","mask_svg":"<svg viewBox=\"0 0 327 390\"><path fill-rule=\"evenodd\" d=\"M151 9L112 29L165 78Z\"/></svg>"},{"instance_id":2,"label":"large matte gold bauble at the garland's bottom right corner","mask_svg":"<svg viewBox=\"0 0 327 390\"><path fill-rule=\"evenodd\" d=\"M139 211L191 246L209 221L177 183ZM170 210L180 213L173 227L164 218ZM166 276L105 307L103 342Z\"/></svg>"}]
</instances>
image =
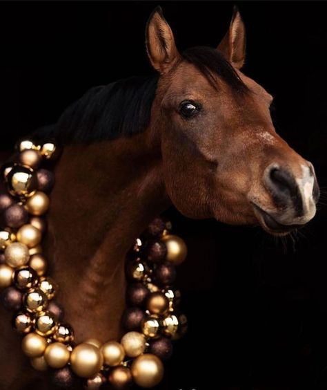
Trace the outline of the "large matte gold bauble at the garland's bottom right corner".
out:
<instances>
[{"instance_id":1,"label":"large matte gold bauble at the garland's bottom right corner","mask_svg":"<svg viewBox=\"0 0 327 390\"><path fill-rule=\"evenodd\" d=\"M164 377L164 365L156 355L146 353L132 362L132 378L140 387L156 386Z\"/></svg>"}]
</instances>

